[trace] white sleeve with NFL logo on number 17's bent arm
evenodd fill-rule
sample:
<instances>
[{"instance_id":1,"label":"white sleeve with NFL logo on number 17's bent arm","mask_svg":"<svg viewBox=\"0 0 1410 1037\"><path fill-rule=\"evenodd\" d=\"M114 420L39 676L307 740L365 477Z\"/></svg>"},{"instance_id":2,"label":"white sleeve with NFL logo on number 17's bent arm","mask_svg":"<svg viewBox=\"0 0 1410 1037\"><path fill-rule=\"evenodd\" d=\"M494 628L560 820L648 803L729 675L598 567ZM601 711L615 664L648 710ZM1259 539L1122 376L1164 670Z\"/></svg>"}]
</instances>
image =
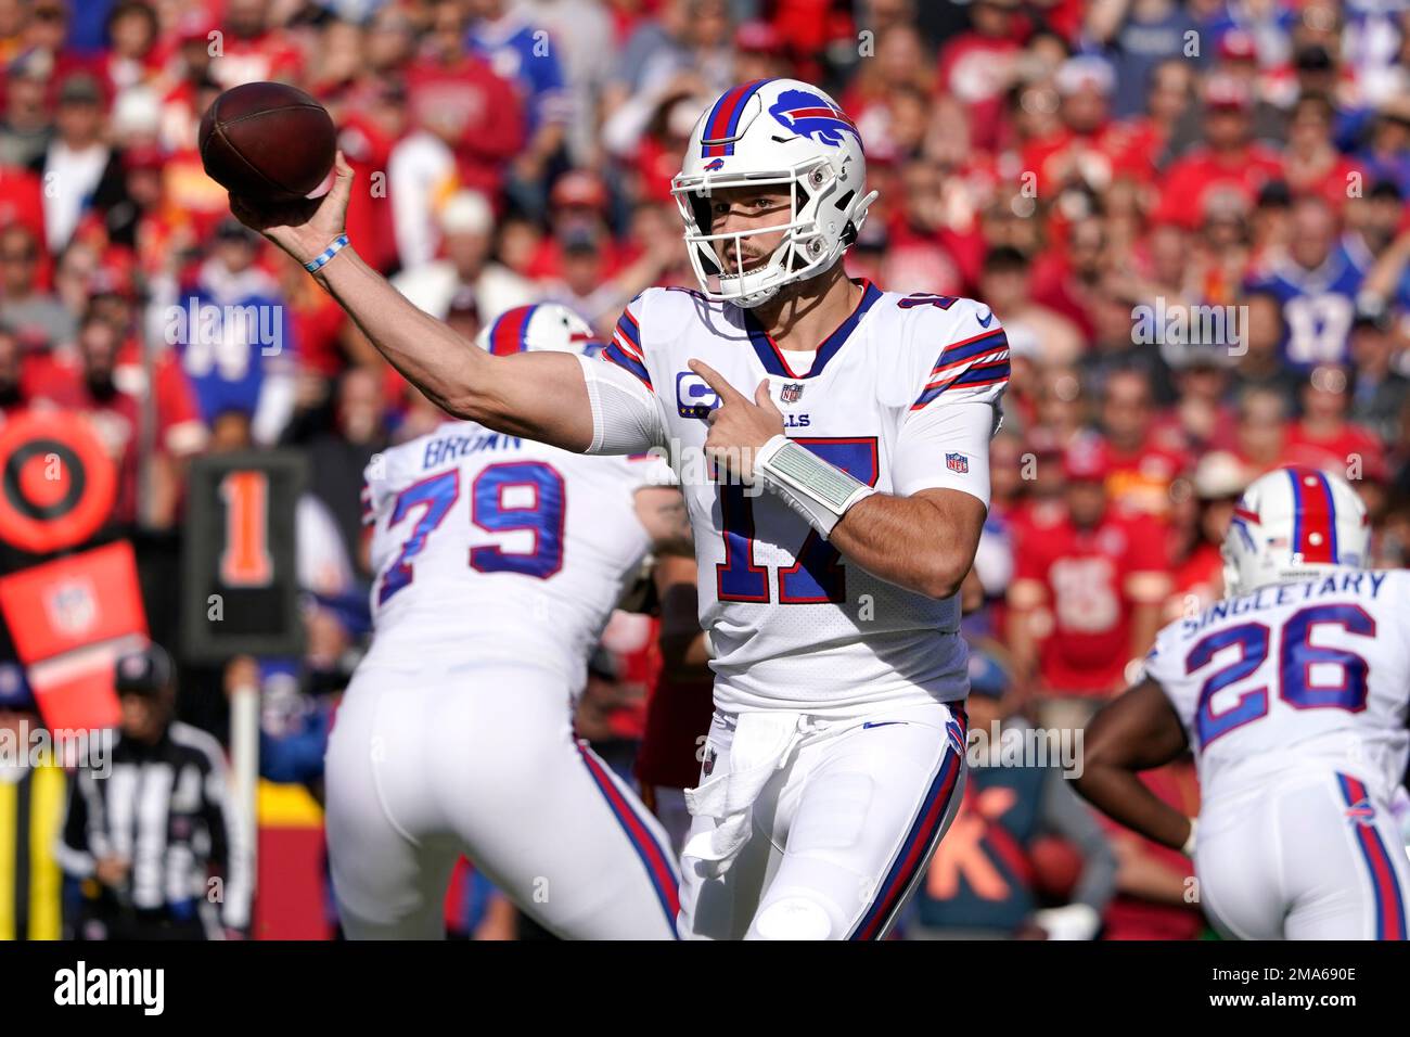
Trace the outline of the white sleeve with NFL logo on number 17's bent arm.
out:
<instances>
[{"instance_id":1,"label":"white sleeve with NFL logo on number 17's bent arm","mask_svg":"<svg viewBox=\"0 0 1410 1037\"><path fill-rule=\"evenodd\" d=\"M963 490L988 507L988 439L994 405L931 405L911 418L895 444L891 484L898 497L939 487Z\"/></svg>"}]
</instances>

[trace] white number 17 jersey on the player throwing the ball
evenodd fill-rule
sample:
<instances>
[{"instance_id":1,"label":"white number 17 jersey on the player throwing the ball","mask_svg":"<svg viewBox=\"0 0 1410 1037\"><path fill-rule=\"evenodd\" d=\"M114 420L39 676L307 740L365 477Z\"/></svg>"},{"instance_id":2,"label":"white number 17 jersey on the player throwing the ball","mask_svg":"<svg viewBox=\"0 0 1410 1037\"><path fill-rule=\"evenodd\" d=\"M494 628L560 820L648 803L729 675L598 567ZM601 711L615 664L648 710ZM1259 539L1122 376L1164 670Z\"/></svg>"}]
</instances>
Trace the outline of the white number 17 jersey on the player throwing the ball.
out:
<instances>
[{"instance_id":1,"label":"white number 17 jersey on the player throwing the ball","mask_svg":"<svg viewBox=\"0 0 1410 1037\"><path fill-rule=\"evenodd\" d=\"M938 450L918 473L915 464L902 471L895 457L908 422L933 408L981 402L991 419L986 435L997 429L1008 343L987 306L864 284L860 305L811 368L794 372L749 310L653 288L627 306L602 358L640 378L663 412L663 446L695 533L716 704L838 712L966 696L957 595L936 601L880 580L845 563L776 495L709 480L702 447L719 399L688 361L706 363L749 398L767 377L785 433L881 492L973 480L987 501L980 459Z\"/></svg>"}]
</instances>

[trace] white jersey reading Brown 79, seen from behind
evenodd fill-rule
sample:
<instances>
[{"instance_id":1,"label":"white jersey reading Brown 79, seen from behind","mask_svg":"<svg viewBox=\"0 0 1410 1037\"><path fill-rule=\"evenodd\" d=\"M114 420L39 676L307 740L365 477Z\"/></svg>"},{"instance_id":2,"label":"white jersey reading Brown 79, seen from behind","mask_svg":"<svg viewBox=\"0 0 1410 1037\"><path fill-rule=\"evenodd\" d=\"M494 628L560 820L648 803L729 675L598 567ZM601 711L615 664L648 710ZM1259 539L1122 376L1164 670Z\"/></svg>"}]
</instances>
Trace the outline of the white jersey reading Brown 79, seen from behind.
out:
<instances>
[{"instance_id":1,"label":"white jersey reading Brown 79, seen from behind","mask_svg":"<svg viewBox=\"0 0 1410 1037\"><path fill-rule=\"evenodd\" d=\"M650 549L634 494L663 474L651 457L585 457L474 422L374 457L368 662L522 660L577 694Z\"/></svg>"}]
</instances>

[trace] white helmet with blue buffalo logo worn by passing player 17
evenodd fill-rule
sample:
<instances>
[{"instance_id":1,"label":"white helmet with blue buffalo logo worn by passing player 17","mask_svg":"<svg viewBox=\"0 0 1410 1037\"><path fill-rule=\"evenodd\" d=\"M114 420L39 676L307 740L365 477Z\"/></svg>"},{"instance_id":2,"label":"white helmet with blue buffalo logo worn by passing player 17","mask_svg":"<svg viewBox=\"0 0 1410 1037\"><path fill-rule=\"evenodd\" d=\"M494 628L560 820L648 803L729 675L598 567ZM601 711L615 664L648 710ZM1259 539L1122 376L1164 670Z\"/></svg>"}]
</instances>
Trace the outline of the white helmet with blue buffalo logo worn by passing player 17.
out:
<instances>
[{"instance_id":1,"label":"white helmet with blue buffalo logo worn by passing player 17","mask_svg":"<svg viewBox=\"0 0 1410 1037\"><path fill-rule=\"evenodd\" d=\"M701 289L709 299L749 309L832 267L856 241L877 196L866 193L866 176L857 127L816 86L756 79L726 90L695 123L681 172L671 181ZM788 220L712 234L711 192L747 185L788 185ZM737 272L744 260L740 238L780 230L787 233L768 260ZM718 241L733 250L735 272L721 262Z\"/></svg>"}]
</instances>

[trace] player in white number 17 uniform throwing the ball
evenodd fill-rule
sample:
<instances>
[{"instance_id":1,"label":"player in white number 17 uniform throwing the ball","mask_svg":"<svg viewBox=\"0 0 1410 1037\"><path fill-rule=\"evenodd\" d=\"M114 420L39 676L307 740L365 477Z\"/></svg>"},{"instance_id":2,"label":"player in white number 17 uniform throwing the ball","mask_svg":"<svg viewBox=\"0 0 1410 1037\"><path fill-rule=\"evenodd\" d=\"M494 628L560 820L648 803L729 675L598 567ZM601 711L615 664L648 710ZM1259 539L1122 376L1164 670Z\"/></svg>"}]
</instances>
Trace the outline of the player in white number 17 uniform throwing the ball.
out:
<instances>
[{"instance_id":1,"label":"player in white number 17 uniform throwing the ball","mask_svg":"<svg viewBox=\"0 0 1410 1037\"><path fill-rule=\"evenodd\" d=\"M718 708L681 935L883 937L960 799L957 590L1008 381L993 312L847 278L876 195L856 127L798 80L701 114L673 182L701 291L643 292L608 363L467 350L347 245L351 175L320 205L231 203L451 413L678 470Z\"/></svg>"}]
</instances>

